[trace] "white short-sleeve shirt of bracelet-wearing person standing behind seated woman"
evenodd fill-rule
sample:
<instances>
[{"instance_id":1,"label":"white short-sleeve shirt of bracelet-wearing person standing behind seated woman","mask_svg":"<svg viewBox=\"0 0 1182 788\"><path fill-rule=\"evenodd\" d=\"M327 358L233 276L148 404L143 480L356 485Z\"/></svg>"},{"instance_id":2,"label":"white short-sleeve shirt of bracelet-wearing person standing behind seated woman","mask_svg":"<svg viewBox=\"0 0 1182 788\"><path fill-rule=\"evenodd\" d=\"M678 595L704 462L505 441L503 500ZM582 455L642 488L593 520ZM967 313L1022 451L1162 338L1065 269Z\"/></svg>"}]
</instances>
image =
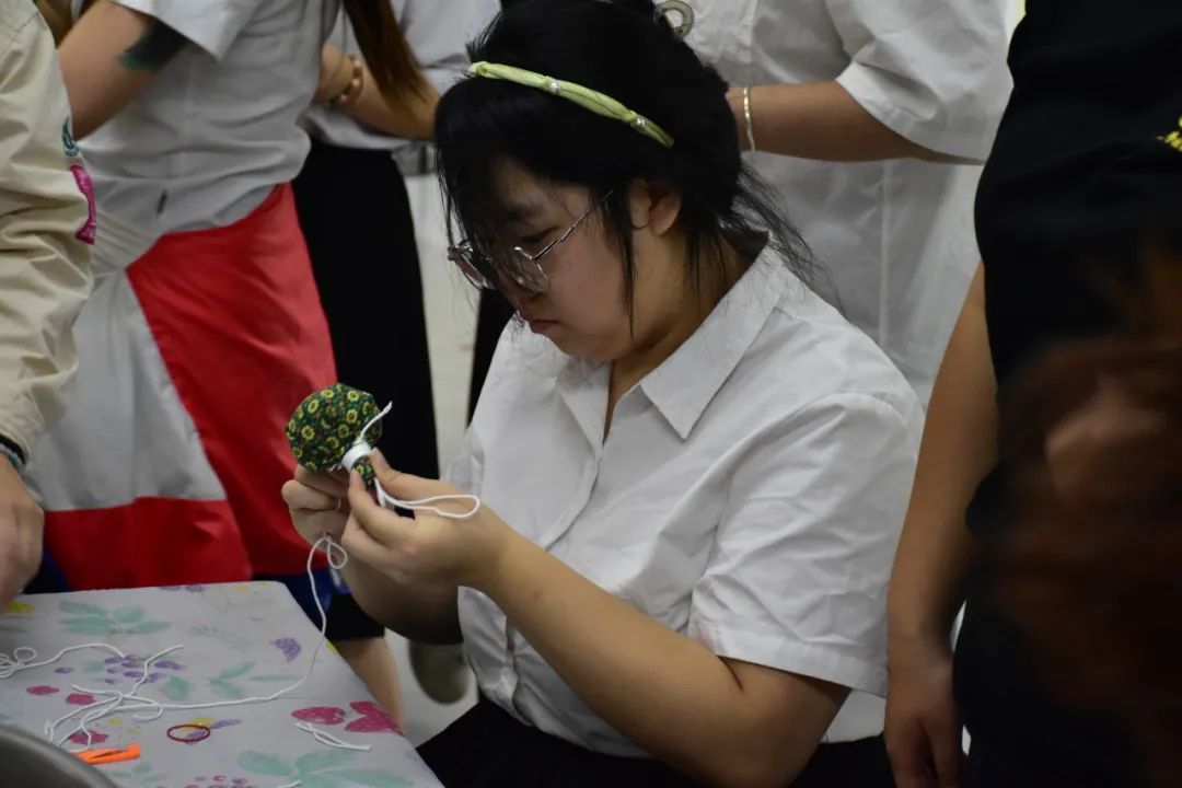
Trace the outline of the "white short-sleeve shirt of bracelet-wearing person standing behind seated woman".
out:
<instances>
[{"instance_id":1,"label":"white short-sleeve shirt of bracelet-wearing person standing behind seated woman","mask_svg":"<svg viewBox=\"0 0 1182 788\"><path fill-rule=\"evenodd\" d=\"M695 0L689 43L733 85L836 80L885 126L983 162L1011 79L1006 4ZM758 96L758 95L756 95ZM759 145L760 105L752 106ZM840 308L931 393L979 253L980 167L748 154L825 265Z\"/></svg>"}]
</instances>

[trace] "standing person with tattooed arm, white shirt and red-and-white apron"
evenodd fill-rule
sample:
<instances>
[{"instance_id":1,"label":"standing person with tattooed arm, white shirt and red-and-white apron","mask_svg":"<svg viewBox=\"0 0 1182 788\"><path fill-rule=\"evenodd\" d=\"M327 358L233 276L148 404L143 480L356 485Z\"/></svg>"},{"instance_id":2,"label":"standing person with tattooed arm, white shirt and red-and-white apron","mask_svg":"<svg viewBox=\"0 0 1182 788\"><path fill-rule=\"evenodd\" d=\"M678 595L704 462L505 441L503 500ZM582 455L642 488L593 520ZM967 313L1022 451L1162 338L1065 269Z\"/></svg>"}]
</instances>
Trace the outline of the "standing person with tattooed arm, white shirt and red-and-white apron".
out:
<instances>
[{"instance_id":1,"label":"standing person with tattooed arm, white shirt and red-and-white apron","mask_svg":"<svg viewBox=\"0 0 1182 788\"><path fill-rule=\"evenodd\" d=\"M59 54L103 230L72 408L33 454L60 571L43 577L277 578L316 617L307 547L271 491L287 417L336 377L287 185L309 148L298 121L318 87L356 111L415 106L421 78L374 4L345 4L375 65L356 85L322 74L336 0L86 5Z\"/></svg>"}]
</instances>

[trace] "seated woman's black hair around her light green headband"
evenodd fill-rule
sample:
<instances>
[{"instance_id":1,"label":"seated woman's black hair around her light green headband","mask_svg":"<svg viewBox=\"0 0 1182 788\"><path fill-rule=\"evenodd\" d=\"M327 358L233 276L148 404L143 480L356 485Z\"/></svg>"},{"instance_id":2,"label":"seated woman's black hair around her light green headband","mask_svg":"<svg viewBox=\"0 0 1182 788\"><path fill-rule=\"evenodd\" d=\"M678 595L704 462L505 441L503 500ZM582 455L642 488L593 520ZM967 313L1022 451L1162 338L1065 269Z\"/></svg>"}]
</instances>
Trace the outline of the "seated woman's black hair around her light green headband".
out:
<instances>
[{"instance_id":1,"label":"seated woman's black hair around her light green headband","mask_svg":"<svg viewBox=\"0 0 1182 788\"><path fill-rule=\"evenodd\" d=\"M472 60L534 71L599 91L664 129L665 148L629 125L517 83L468 78L440 100L439 174L449 236L485 239L498 226L493 178L511 159L544 181L582 185L603 200L604 224L624 259L624 300L635 285L626 184L671 184L681 194L678 229L688 278L725 265L723 243L766 243L807 279L799 233L775 196L743 163L739 132L717 71L655 17L650 0L524 0L507 7L468 46Z\"/></svg>"}]
</instances>

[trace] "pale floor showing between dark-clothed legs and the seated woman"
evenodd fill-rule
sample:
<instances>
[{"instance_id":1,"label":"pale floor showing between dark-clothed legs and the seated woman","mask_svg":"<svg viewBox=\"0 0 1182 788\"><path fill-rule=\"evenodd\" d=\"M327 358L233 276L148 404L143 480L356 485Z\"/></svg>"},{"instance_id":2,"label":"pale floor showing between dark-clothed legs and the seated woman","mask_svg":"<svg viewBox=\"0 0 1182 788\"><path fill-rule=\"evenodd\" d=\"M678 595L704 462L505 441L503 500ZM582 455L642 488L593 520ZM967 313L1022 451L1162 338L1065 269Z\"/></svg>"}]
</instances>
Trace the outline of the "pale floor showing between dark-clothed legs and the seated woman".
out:
<instances>
[{"instance_id":1,"label":"pale floor showing between dark-clothed legs and the seated woman","mask_svg":"<svg viewBox=\"0 0 1182 788\"><path fill-rule=\"evenodd\" d=\"M455 456L463 441L468 411L468 384L472 379L472 349L476 325L476 299L472 287L447 261L447 240L434 176L407 178L427 299L427 337L431 356L431 384L435 391L435 425L440 460ZM475 702L469 686L467 697L452 705L428 698L410 672L407 642L390 633L390 647L398 663L407 735L420 744L446 728Z\"/></svg>"}]
</instances>

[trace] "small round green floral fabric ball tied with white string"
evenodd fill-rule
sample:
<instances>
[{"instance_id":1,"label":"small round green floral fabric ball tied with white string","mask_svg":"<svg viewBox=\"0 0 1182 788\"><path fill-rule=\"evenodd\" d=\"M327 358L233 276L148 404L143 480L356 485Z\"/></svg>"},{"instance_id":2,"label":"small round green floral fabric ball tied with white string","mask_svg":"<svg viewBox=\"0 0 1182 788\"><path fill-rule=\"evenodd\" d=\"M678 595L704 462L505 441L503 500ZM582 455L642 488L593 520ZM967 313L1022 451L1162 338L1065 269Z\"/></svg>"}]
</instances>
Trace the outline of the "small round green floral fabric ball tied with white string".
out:
<instances>
[{"instance_id":1,"label":"small round green floral fabric ball tied with white string","mask_svg":"<svg viewBox=\"0 0 1182 788\"><path fill-rule=\"evenodd\" d=\"M309 470L333 470L358 441L374 445L382 437L382 423L362 435L362 429L378 415L374 395L342 383L322 389L300 403L287 421L287 442L296 462ZM353 468L366 483L374 481L369 458Z\"/></svg>"}]
</instances>

